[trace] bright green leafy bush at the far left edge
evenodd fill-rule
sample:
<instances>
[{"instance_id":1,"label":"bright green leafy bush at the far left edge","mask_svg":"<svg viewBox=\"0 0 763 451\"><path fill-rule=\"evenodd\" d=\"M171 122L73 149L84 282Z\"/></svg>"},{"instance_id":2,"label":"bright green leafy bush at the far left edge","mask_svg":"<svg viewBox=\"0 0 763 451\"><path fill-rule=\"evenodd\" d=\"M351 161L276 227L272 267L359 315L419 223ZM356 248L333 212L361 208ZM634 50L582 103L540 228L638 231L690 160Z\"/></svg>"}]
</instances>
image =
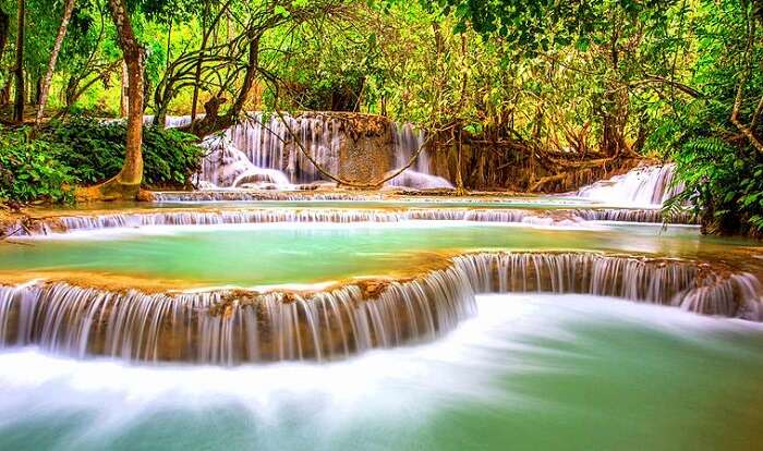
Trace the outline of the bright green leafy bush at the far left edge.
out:
<instances>
[{"instance_id":1,"label":"bright green leafy bush at the far left edge","mask_svg":"<svg viewBox=\"0 0 763 451\"><path fill-rule=\"evenodd\" d=\"M27 127L0 129L0 202L71 200L76 179L57 155L65 146L29 138Z\"/></svg>"}]
</instances>

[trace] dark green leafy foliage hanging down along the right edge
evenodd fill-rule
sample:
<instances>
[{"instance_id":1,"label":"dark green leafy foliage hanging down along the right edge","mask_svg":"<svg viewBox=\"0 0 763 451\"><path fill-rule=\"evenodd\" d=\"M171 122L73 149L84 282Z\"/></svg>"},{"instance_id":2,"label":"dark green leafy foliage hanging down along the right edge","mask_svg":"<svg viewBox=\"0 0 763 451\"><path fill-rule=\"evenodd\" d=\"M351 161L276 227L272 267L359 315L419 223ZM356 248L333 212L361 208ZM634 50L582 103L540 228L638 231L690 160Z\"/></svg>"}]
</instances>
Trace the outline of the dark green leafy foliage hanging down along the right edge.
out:
<instances>
[{"instance_id":1,"label":"dark green leafy foliage hanging down along the right edge","mask_svg":"<svg viewBox=\"0 0 763 451\"><path fill-rule=\"evenodd\" d=\"M674 204L691 202L707 231L762 235L763 155L730 120L740 86L738 115L746 124L763 94L760 71L742 80L746 60L763 56L760 38L748 49L747 13L735 1L699 3L693 19L700 54L688 83L703 96L673 101L671 113L658 118L647 145L676 161L687 190ZM760 122L753 129L763 136Z\"/></svg>"}]
</instances>

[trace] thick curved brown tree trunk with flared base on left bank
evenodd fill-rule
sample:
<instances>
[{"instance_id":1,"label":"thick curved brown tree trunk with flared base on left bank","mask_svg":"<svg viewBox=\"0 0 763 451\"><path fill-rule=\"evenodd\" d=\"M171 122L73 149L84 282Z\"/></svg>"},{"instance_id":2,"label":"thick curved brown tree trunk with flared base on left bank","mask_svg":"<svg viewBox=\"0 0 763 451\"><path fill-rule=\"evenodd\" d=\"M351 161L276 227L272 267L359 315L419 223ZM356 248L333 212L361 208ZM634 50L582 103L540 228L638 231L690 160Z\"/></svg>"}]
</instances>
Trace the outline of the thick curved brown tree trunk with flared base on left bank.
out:
<instances>
[{"instance_id":1,"label":"thick curved brown tree trunk with flared base on left bank","mask_svg":"<svg viewBox=\"0 0 763 451\"><path fill-rule=\"evenodd\" d=\"M106 183L86 190L81 198L126 199L136 198L143 181L143 65L144 49L137 42L130 23L124 0L109 0L111 19L117 28L117 40L122 49L128 72L128 130L124 164L122 170Z\"/></svg>"}]
</instances>

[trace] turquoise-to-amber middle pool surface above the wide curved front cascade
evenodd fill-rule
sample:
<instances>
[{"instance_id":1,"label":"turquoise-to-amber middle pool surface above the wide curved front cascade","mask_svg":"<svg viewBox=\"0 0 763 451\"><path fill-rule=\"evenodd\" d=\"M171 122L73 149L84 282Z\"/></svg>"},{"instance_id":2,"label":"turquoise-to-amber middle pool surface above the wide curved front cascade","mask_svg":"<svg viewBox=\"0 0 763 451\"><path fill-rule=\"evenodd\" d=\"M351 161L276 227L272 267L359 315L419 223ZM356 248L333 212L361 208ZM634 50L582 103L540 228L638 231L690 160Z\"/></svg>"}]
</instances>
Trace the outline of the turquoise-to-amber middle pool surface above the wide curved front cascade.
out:
<instances>
[{"instance_id":1,"label":"turquoise-to-amber middle pool surface above the wide curved front cascade","mask_svg":"<svg viewBox=\"0 0 763 451\"><path fill-rule=\"evenodd\" d=\"M693 227L564 228L448 221L275 223L74 232L0 245L0 270L88 271L251 287L419 273L475 251L595 251L724 258L747 241Z\"/></svg>"}]
</instances>

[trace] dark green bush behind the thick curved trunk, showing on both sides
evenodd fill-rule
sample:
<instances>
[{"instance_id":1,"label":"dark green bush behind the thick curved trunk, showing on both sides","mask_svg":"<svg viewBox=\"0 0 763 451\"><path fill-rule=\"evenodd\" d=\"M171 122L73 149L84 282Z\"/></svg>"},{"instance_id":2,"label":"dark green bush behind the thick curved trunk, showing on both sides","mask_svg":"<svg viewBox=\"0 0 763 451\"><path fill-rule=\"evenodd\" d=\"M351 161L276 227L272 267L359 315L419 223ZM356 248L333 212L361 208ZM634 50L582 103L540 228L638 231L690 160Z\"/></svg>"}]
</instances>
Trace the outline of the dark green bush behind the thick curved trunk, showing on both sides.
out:
<instances>
[{"instance_id":1,"label":"dark green bush behind the thick curved trunk, showing on both sides","mask_svg":"<svg viewBox=\"0 0 763 451\"><path fill-rule=\"evenodd\" d=\"M73 168L81 183L96 184L122 168L125 135L123 121L75 118L48 126L40 138L61 145L58 159ZM144 126L144 184L154 188L187 186L204 157L204 149L195 141L194 135L177 130Z\"/></svg>"}]
</instances>

